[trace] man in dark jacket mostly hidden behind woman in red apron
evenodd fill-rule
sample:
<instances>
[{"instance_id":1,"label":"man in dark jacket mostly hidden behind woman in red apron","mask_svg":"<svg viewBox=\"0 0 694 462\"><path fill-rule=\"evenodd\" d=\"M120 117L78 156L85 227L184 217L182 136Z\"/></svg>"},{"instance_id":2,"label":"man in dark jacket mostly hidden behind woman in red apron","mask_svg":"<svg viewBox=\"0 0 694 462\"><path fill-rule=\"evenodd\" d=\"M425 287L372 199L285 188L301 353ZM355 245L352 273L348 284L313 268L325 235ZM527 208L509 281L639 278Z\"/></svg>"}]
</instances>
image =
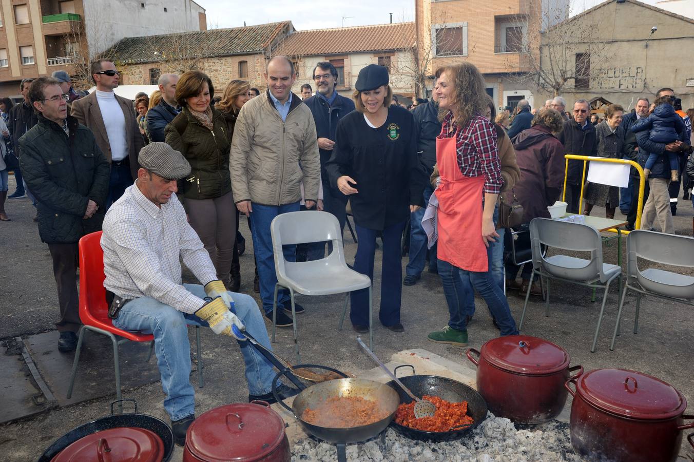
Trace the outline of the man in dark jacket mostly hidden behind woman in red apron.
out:
<instances>
[{"instance_id":1,"label":"man in dark jacket mostly hidden behind woman in red apron","mask_svg":"<svg viewBox=\"0 0 694 462\"><path fill-rule=\"evenodd\" d=\"M436 83L434 83L436 87ZM434 171L436 164L436 137L441 133L441 122L439 121L439 103L436 93L432 94L432 100L428 103L417 105L412 115L414 116L414 126L417 129L417 151L419 160L424 165L427 178ZM426 211L434 189L430 182L424 187L424 207L410 214L410 234L409 234L409 263L405 268L405 279L403 284L411 286L421 277L425 266L427 255L427 234L422 228L422 219ZM436 248L432 248L431 255L434 256L433 264L429 264L429 271L437 272Z\"/></svg>"}]
</instances>

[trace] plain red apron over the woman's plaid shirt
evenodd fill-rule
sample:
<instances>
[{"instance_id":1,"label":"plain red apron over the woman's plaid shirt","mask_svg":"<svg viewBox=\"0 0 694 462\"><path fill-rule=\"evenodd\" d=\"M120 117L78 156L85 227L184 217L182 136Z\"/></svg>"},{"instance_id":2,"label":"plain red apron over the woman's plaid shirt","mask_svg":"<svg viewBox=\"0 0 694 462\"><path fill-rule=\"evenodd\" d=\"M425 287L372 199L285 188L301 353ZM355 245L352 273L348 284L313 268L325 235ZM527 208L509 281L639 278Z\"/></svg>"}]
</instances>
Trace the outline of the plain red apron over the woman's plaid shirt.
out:
<instances>
[{"instance_id":1,"label":"plain red apron over the woman's plaid shirt","mask_svg":"<svg viewBox=\"0 0 694 462\"><path fill-rule=\"evenodd\" d=\"M436 160L441 175L435 191L439 200L437 257L467 271L489 271L486 246L482 241L484 176L468 178L460 173L455 140L456 136L436 140Z\"/></svg>"}]
</instances>

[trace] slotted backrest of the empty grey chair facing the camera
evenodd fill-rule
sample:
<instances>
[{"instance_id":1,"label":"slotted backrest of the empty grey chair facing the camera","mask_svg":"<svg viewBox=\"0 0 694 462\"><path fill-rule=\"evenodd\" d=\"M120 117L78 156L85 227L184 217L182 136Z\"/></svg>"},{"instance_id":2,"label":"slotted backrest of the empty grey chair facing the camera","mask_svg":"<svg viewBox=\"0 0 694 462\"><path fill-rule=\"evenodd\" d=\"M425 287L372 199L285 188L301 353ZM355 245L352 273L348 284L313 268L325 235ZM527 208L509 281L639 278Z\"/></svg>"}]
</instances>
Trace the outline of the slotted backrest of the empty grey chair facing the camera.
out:
<instances>
[{"instance_id":1,"label":"slotted backrest of the empty grey chair facing the camera","mask_svg":"<svg viewBox=\"0 0 694 462\"><path fill-rule=\"evenodd\" d=\"M275 269L280 282L287 277L287 270L296 265L342 265L346 266L342 234L335 215L316 210L289 212L276 216L270 223ZM332 253L313 262L288 262L282 246L309 242L332 242Z\"/></svg>"}]
</instances>

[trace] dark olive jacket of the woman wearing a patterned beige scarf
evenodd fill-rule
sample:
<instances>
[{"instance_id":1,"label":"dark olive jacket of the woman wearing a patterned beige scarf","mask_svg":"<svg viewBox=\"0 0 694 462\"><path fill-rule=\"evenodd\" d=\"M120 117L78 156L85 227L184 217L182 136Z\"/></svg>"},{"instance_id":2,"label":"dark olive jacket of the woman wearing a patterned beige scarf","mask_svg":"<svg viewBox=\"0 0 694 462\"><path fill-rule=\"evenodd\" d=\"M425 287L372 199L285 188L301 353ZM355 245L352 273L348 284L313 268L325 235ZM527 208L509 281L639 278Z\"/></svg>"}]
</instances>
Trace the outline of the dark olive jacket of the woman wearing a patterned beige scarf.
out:
<instances>
[{"instance_id":1,"label":"dark olive jacket of the woman wearing a patterned beige scarf","mask_svg":"<svg viewBox=\"0 0 694 462\"><path fill-rule=\"evenodd\" d=\"M190 163L190 175L178 182L178 200L213 199L231 192L229 151L231 139L221 112L212 108L212 128L190 113L188 108L164 129L167 144L180 151Z\"/></svg>"}]
</instances>

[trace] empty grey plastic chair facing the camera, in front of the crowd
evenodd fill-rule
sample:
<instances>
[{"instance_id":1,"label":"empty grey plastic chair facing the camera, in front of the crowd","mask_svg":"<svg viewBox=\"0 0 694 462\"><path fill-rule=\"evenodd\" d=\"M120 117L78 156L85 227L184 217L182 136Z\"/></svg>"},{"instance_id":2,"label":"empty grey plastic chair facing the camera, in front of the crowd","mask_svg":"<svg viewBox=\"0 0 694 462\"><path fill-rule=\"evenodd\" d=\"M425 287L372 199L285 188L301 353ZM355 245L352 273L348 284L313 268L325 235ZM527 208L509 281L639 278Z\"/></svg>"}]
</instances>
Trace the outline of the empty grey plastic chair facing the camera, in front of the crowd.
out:
<instances>
[{"instance_id":1,"label":"empty grey plastic chair facing the camera, in front of the crowd","mask_svg":"<svg viewBox=\"0 0 694 462\"><path fill-rule=\"evenodd\" d=\"M373 320L371 318L371 279L348 268L339 222L333 214L305 210L289 212L276 216L270 223L277 284L273 297L272 341L275 341L277 293L280 287L289 289L291 297L291 321L294 327L294 352L299 356L298 336L296 334L296 311L294 293L306 296L322 296L346 292L344 308L338 328L342 329L350 292L369 289L369 348L373 350ZM325 258L312 262L288 262L282 253L282 246L298 243L331 241L332 252Z\"/></svg>"}]
</instances>

